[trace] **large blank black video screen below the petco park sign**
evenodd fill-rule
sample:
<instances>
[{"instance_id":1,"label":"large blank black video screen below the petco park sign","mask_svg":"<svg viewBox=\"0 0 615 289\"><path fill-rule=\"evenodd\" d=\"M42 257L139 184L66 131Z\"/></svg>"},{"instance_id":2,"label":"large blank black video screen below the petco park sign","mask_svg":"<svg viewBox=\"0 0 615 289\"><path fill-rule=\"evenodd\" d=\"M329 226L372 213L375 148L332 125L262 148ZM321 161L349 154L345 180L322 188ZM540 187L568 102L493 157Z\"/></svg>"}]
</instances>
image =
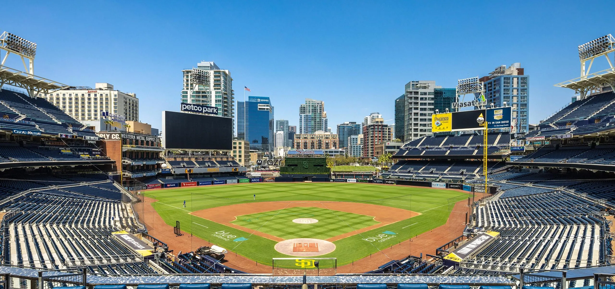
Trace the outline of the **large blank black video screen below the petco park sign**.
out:
<instances>
[{"instance_id":1,"label":"large blank black video screen below the petco park sign","mask_svg":"<svg viewBox=\"0 0 615 289\"><path fill-rule=\"evenodd\" d=\"M192 150L231 150L232 118L162 112L162 145Z\"/></svg>"}]
</instances>

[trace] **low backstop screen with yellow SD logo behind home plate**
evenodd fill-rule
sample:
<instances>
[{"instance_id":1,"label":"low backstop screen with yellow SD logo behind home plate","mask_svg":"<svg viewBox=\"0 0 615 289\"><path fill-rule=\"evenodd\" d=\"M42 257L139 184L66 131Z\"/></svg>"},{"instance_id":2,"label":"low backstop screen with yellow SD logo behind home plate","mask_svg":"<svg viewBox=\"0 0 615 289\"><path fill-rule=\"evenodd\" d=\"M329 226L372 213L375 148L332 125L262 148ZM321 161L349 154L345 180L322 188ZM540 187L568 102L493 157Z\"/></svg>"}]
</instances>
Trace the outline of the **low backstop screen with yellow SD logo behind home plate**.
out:
<instances>
[{"instance_id":1,"label":"low backstop screen with yellow SD logo behind home plate","mask_svg":"<svg viewBox=\"0 0 615 289\"><path fill-rule=\"evenodd\" d=\"M337 258L273 258L272 274L274 275L335 275L338 267Z\"/></svg>"}]
</instances>

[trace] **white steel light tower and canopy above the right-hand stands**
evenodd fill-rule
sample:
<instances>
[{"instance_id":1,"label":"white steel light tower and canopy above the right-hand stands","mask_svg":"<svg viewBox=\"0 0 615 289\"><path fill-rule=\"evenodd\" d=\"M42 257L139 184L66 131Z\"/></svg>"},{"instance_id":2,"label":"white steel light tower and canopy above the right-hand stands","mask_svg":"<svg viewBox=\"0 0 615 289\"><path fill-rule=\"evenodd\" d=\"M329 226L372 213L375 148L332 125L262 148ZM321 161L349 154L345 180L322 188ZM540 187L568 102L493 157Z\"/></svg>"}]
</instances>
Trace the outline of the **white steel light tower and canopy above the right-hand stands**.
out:
<instances>
[{"instance_id":1,"label":"white steel light tower and canopy above the right-hand stands","mask_svg":"<svg viewBox=\"0 0 615 289\"><path fill-rule=\"evenodd\" d=\"M609 53L615 52L615 38L608 34L581 44L578 48L579 60L581 61L581 77L557 83L555 86L570 88L575 93L579 93L581 99L587 98L592 91L600 90L603 87L611 87L615 91L615 67L613 66L613 61L609 58ZM609 68L590 73L593 61L601 58L601 56L605 56Z\"/></svg>"}]
</instances>

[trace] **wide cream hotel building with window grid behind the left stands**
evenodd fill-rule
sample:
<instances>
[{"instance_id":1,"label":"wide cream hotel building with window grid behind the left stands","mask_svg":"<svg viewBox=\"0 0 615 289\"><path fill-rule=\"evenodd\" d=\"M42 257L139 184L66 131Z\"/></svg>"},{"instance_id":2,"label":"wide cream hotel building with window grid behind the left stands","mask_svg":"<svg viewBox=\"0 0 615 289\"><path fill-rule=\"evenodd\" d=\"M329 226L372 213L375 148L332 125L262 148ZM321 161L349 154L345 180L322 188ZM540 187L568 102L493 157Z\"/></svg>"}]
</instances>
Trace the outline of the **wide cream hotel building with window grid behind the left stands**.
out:
<instances>
[{"instance_id":1,"label":"wide cream hotel building with window grid behind the left stands","mask_svg":"<svg viewBox=\"0 0 615 289\"><path fill-rule=\"evenodd\" d=\"M139 120L139 99L135 93L114 90L109 83L96 83L95 88L69 87L53 93L39 93L39 97L55 104L76 120L92 126L103 118L103 112L115 114L118 121Z\"/></svg>"}]
</instances>

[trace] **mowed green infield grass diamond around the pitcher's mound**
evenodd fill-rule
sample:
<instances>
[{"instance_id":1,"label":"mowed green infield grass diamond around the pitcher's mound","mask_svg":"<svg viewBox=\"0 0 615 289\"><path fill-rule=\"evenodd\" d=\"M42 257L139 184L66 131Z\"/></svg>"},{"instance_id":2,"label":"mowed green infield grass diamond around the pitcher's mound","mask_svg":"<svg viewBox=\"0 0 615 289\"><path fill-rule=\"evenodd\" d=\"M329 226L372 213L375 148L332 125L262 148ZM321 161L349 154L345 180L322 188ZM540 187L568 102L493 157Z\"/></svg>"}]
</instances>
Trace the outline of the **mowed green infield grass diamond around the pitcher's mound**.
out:
<instances>
[{"instance_id":1,"label":"mowed green infield grass diamond around the pitcher's mound","mask_svg":"<svg viewBox=\"0 0 615 289\"><path fill-rule=\"evenodd\" d=\"M317 223L298 224L296 218L315 218ZM283 239L328 239L357 229L376 225L373 216L340 212L319 207L292 207L237 216L236 225L254 229Z\"/></svg>"}]
</instances>

